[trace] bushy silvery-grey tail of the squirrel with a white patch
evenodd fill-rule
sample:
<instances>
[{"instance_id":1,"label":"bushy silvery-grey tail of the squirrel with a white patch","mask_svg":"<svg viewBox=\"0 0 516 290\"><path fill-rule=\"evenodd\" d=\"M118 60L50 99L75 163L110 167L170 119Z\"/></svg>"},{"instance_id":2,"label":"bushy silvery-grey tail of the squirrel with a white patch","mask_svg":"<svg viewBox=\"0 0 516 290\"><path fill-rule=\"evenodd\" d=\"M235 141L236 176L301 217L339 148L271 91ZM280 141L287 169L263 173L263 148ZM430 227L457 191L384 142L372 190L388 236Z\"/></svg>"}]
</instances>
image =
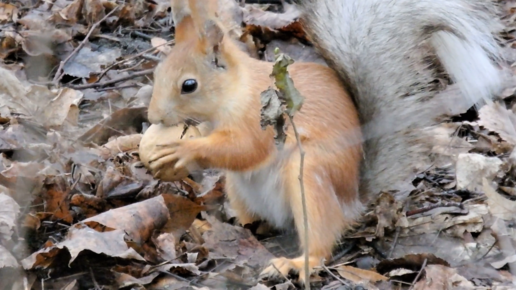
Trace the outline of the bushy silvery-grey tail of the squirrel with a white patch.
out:
<instances>
[{"instance_id":1,"label":"bushy silvery-grey tail of the squirrel with a white patch","mask_svg":"<svg viewBox=\"0 0 516 290\"><path fill-rule=\"evenodd\" d=\"M491 0L298 0L306 30L353 94L362 191L403 189L429 161L422 128L502 89ZM450 78L452 86L443 86ZM446 88L446 90L444 90Z\"/></svg>"}]
</instances>

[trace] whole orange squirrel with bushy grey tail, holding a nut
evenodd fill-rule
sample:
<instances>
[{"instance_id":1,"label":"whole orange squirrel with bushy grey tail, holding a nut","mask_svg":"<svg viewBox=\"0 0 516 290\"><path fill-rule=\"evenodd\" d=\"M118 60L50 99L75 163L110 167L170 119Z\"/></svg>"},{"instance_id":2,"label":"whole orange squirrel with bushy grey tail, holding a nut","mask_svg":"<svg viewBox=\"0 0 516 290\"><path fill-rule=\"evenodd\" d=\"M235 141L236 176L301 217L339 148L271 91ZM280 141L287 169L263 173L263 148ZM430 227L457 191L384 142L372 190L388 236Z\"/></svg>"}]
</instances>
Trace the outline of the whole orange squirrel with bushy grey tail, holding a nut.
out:
<instances>
[{"instance_id":1,"label":"whole orange squirrel with bushy grey tail, holding a nut","mask_svg":"<svg viewBox=\"0 0 516 290\"><path fill-rule=\"evenodd\" d=\"M260 126L260 93L272 63L249 57L217 21L213 1L172 0L176 45L157 66L149 104L153 124L209 122L206 136L162 146L150 157L166 166L226 171L226 193L241 224L258 219L305 233L299 151L292 132L278 151ZM295 1L296 2L296 1ZM309 268L328 259L367 196L403 189L429 158L431 138L415 128L453 107L489 102L502 89L500 26L487 0L303 0L303 25L330 67L294 63L289 73L305 97L294 122L305 150ZM460 94L436 80L446 75ZM357 130L361 128L361 130ZM363 142L364 141L364 142ZM363 144L363 146L362 146ZM172 164L172 165L171 165ZM275 258L263 270L304 277L304 254Z\"/></svg>"}]
</instances>

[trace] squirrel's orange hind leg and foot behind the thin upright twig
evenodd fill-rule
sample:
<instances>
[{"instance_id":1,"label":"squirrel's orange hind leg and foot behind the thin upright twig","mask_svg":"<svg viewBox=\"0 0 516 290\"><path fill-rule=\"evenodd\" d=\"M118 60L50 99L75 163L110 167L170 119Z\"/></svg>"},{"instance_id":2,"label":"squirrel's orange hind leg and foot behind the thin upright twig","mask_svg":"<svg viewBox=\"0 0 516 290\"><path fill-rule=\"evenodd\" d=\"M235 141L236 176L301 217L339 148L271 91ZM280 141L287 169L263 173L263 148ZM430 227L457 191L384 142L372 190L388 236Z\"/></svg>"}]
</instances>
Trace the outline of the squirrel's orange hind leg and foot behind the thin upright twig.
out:
<instances>
[{"instance_id":1,"label":"squirrel's orange hind leg and foot behind the thin upright twig","mask_svg":"<svg viewBox=\"0 0 516 290\"><path fill-rule=\"evenodd\" d=\"M286 168L286 173L288 172L285 180L286 196L290 199L301 248L303 252L308 251L308 266L310 271L313 271L314 267L321 265L323 259L330 258L336 241L341 237L343 230L353 221L344 213L346 207L337 197L336 190L338 189L331 182L331 172L325 172L325 168L328 167L321 164L320 159L317 160L316 154L307 154L303 170L308 219L308 247L306 247L301 187L298 178L299 157L296 161L289 162L289 168ZM304 254L294 259L285 257L272 259L271 265L262 271L261 277L277 277L280 276L280 273L286 276L290 270L294 270L299 273L299 279L303 281L304 261Z\"/></svg>"}]
</instances>

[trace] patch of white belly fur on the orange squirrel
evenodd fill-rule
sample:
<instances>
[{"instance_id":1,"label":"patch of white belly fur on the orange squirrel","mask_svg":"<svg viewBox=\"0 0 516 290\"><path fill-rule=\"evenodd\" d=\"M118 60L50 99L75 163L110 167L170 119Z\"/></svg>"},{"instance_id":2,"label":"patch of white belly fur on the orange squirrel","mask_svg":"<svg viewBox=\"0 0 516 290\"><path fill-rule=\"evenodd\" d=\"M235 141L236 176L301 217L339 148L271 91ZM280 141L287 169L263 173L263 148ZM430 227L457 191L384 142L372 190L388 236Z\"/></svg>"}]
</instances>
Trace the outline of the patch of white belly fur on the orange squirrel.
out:
<instances>
[{"instance_id":1,"label":"patch of white belly fur on the orange squirrel","mask_svg":"<svg viewBox=\"0 0 516 290\"><path fill-rule=\"evenodd\" d=\"M292 222L292 211L287 203L276 162L251 172L227 172L233 180L235 194L247 205L250 213L268 221L277 228Z\"/></svg>"}]
</instances>

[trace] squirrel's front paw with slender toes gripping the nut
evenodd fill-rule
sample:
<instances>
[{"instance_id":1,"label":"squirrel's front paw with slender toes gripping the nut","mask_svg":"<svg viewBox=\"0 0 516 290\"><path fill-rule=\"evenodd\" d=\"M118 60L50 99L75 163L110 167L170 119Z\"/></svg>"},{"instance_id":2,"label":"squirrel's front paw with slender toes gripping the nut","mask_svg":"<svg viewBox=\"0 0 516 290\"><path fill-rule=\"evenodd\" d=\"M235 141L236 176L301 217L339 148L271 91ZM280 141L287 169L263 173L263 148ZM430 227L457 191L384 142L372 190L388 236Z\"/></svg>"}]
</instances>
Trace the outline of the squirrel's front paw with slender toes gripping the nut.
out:
<instances>
[{"instance_id":1,"label":"squirrel's front paw with slender toes gripping the nut","mask_svg":"<svg viewBox=\"0 0 516 290\"><path fill-rule=\"evenodd\" d=\"M156 145L156 153L149 159L149 167L152 173L159 175L160 169L168 164L174 164L174 168L184 168L195 160L193 146L189 146L189 140L175 141L169 144Z\"/></svg>"}]
</instances>

